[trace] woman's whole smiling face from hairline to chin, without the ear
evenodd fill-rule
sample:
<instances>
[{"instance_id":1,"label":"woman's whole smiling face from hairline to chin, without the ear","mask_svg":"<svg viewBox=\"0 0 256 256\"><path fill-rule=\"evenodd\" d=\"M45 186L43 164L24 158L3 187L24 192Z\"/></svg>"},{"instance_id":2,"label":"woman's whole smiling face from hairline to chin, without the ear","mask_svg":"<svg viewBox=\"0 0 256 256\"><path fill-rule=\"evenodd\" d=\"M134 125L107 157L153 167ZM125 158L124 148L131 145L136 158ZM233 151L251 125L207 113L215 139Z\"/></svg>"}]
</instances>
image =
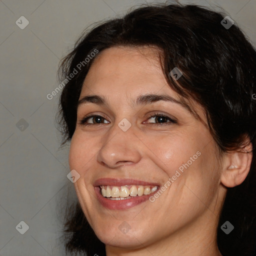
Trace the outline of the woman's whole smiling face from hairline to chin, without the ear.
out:
<instances>
[{"instance_id":1,"label":"woman's whole smiling face from hairline to chin, without the ear","mask_svg":"<svg viewBox=\"0 0 256 256\"><path fill-rule=\"evenodd\" d=\"M105 101L84 98L91 95ZM102 242L139 248L215 232L223 198L215 142L167 84L155 49L102 51L79 100L69 165L80 175L75 190ZM193 107L206 122L202 108Z\"/></svg>"}]
</instances>

